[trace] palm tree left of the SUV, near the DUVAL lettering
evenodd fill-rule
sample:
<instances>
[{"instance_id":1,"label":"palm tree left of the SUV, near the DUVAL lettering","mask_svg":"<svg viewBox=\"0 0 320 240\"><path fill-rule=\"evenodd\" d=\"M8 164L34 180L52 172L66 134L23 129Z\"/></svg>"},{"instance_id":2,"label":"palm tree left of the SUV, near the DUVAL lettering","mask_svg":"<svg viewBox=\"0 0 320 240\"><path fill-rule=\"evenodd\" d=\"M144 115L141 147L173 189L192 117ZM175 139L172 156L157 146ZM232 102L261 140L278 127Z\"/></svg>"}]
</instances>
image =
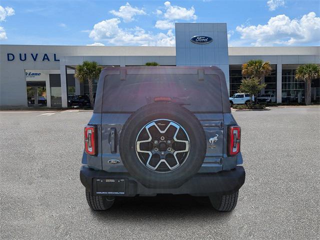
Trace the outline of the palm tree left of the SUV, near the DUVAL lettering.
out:
<instances>
[{"instance_id":1,"label":"palm tree left of the SUV, near the DUVAL lettering","mask_svg":"<svg viewBox=\"0 0 320 240\"><path fill-rule=\"evenodd\" d=\"M93 100L93 80L99 77L101 67L95 61L83 61L81 65L75 68L74 77L79 79L80 82L88 80L89 83L89 98L90 106L94 106Z\"/></svg>"}]
</instances>

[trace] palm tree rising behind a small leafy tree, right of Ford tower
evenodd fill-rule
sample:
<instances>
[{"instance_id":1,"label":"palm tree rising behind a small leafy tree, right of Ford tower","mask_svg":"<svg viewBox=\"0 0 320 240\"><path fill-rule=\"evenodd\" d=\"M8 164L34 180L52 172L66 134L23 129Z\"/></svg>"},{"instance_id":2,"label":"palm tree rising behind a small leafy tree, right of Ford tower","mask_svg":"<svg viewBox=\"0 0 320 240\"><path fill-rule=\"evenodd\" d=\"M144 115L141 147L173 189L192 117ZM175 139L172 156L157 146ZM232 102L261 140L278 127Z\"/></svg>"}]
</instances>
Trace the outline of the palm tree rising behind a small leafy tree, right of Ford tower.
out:
<instances>
[{"instance_id":1,"label":"palm tree rising behind a small leafy tree, right of Ford tower","mask_svg":"<svg viewBox=\"0 0 320 240\"><path fill-rule=\"evenodd\" d=\"M242 64L241 69L242 76L258 79L258 83L261 83L262 77L269 75L272 71L270 63L268 61L264 62L261 59L249 60ZM254 102L257 102L256 96L254 97Z\"/></svg>"}]
</instances>

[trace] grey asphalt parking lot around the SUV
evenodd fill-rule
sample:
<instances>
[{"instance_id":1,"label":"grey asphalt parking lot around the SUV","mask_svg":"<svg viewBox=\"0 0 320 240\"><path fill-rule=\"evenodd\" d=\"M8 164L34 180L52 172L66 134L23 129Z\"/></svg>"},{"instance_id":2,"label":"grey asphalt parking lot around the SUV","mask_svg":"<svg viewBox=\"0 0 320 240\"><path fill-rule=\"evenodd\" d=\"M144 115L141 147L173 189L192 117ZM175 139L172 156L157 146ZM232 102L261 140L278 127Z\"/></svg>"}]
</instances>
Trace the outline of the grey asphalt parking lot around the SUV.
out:
<instances>
[{"instance_id":1,"label":"grey asphalt parking lot around the SUV","mask_svg":"<svg viewBox=\"0 0 320 240\"><path fill-rule=\"evenodd\" d=\"M320 107L236 111L246 180L231 213L190 196L92 212L79 181L90 111L0 111L0 239L319 239Z\"/></svg>"}]
</instances>

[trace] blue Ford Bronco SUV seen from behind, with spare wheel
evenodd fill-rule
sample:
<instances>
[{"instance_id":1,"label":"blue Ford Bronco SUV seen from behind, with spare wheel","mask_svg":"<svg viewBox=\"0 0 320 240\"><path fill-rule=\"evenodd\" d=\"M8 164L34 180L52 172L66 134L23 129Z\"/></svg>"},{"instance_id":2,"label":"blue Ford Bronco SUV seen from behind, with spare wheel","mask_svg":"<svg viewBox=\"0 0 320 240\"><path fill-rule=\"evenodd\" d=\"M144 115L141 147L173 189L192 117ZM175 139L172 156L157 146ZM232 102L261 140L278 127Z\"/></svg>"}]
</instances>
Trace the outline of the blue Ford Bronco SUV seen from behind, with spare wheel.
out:
<instances>
[{"instance_id":1,"label":"blue Ford Bronco SUV seen from behind, with spare wheel","mask_svg":"<svg viewBox=\"0 0 320 240\"><path fill-rule=\"evenodd\" d=\"M84 128L80 180L93 210L116 196L208 196L231 211L245 172L217 67L106 67Z\"/></svg>"}]
</instances>

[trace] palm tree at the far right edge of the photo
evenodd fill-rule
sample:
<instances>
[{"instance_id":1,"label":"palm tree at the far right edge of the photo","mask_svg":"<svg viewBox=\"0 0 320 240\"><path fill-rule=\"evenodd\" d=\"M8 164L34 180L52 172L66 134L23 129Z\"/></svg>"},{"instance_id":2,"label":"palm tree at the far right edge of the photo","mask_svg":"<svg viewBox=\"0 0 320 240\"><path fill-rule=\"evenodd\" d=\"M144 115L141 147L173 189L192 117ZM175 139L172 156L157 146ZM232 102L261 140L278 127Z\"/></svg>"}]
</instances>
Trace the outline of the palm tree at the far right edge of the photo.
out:
<instances>
[{"instance_id":1,"label":"palm tree at the far right edge of the photo","mask_svg":"<svg viewBox=\"0 0 320 240\"><path fill-rule=\"evenodd\" d=\"M311 103L311 81L320 77L320 66L316 64L300 65L295 70L295 79L303 80L306 84L306 96L304 97L305 105Z\"/></svg>"}]
</instances>

